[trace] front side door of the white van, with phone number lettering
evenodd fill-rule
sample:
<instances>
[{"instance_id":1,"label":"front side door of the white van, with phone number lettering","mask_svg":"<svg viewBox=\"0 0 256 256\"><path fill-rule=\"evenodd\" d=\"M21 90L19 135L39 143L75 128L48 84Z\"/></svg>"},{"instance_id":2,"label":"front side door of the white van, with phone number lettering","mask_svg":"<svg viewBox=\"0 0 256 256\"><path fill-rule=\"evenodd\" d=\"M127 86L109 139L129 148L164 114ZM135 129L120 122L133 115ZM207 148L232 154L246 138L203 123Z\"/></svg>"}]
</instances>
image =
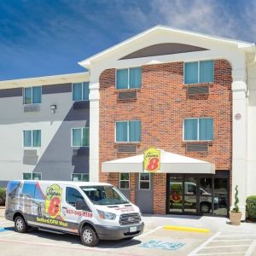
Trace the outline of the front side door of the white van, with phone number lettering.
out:
<instances>
[{"instance_id":1,"label":"front side door of the white van, with phone number lettering","mask_svg":"<svg viewBox=\"0 0 256 256\"><path fill-rule=\"evenodd\" d=\"M78 199L82 199L84 201L84 197L83 195L81 195L79 190L71 186L67 186L65 197L63 198L61 211L62 214L65 216L65 221L67 221L68 226L74 232L79 231L79 223L82 221L82 218L84 218L84 212L77 210L75 207L75 203Z\"/></svg>"}]
</instances>

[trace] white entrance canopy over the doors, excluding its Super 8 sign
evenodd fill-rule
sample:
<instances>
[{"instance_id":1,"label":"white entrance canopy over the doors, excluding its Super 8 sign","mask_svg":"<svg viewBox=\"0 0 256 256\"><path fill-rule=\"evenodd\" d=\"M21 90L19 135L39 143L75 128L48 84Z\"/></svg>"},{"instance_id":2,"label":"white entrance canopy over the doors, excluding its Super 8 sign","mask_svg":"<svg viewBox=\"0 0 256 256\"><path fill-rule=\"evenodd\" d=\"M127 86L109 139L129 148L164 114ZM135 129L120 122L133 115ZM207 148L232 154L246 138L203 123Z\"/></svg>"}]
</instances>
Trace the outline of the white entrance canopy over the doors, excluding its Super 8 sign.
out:
<instances>
[{"instance_id":1,"label":"white entrance canopy over the doors, excluding its Super 8 sign","mask_svg":"<svg viewBox=\"0 0 256 256\"><path fill-rule=\"evenodd\" d=\"M144 172L143 154L102 163L102 172ZM205 173L215 174L215 165L181 154L160 150L159 173Z\"/></svg>"}]
</instances>

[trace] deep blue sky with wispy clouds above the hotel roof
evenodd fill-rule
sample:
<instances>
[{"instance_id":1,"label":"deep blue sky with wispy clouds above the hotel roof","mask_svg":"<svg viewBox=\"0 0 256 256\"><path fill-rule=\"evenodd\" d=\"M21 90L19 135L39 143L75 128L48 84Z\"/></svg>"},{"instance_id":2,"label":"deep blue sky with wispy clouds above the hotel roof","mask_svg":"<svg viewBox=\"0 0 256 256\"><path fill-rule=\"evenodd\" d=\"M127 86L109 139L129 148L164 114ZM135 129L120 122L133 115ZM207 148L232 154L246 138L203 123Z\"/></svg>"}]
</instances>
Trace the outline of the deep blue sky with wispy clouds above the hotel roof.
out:
<instances>
[{"instance_id":1,"label":"deep blue sky with wispy clouds above the hotel roof","mask_svg":"<svg viewBox=\"0 0 256 256\"><path fill-rule=\"evenodd\" d=\"M0 80L83 72L78 61L157 24L256 41L254 0L1 0Z\"/></svg>"}]
</instances>

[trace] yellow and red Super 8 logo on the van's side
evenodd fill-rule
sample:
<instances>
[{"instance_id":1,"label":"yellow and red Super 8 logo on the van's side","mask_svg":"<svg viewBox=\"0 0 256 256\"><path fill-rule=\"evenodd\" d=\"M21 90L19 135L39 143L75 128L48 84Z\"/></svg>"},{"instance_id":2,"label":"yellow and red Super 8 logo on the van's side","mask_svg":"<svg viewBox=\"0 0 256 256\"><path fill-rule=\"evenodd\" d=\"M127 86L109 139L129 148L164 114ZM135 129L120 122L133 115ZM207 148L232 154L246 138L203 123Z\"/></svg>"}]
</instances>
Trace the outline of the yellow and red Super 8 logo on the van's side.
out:
<instances>
[{"instance_id":1,"label":"yellow and red Super 8 logo on the van's side","mask_svg":"<svg viewBox=\"0 0 256 256\"><path fill-rule=\"evenodd\" d=\"M56 218L61 214L61 193L62 189L57 184L46 189L45 213L48 213L50 218Z\"/></svg>"}]
</instances>

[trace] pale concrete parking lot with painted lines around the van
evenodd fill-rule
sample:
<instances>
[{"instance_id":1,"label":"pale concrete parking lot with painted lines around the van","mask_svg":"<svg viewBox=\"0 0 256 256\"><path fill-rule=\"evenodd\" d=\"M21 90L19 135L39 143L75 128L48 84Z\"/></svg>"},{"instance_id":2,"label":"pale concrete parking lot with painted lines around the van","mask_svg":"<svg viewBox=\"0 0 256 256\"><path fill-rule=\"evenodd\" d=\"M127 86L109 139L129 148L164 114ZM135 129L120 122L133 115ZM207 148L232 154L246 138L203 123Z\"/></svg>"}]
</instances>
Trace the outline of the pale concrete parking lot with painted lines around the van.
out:
<instances>
[{"instance_id":1,"label":"pale concrete parking lot with painted lines around the van","mask_svg":"<svg viewBox=\"0 0 256 256\"><path fill-rule=\"evenodd\" d=\"M1 255L256 255L256 225L230 226L225 218L145 216L143 235L132 240L102 241L84 247L79 236L32 230L14 231L14 223L0 216ZM209 232L165 230L166 225L208 229Z\"/></svg>"}]
</instances>

